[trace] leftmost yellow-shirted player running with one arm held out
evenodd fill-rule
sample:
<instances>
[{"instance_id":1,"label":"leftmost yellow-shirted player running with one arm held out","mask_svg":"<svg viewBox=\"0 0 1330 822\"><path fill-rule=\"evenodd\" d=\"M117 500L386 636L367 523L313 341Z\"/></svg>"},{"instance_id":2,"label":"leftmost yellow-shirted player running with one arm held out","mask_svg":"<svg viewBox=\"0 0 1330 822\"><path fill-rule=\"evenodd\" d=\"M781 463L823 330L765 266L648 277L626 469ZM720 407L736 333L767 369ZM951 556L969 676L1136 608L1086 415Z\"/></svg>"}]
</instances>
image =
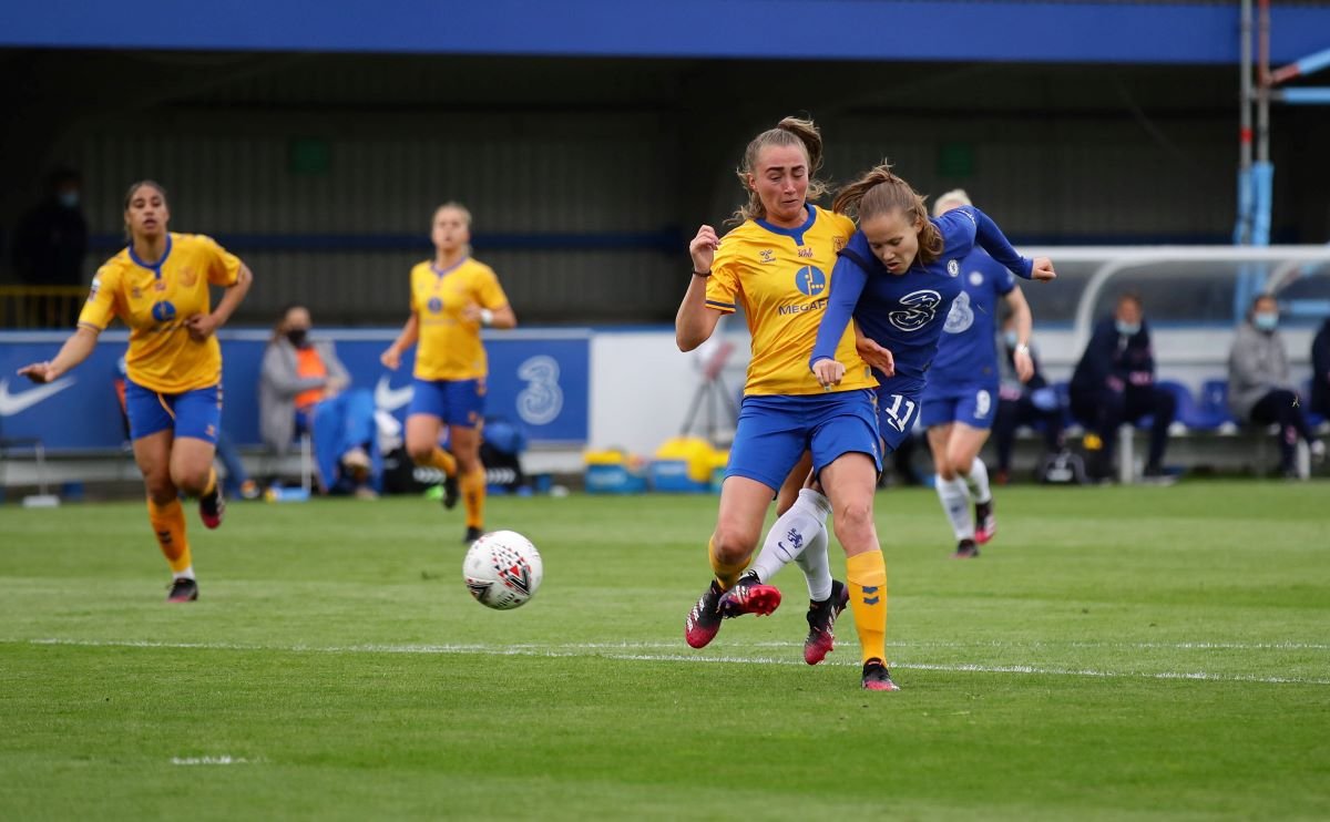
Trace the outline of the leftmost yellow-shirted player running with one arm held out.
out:
<instances>
[{"instance_id":1,"label":"leftmost yellow-shirted player running with one arm held out","mask_svg":"<svg viewBox=\"0 0 1330 822\"><path fill-rule=\"evenodd\" d=\"M200 497L203 524L222 523L225 500L213 470L222 412L222 352L213 333L253 282L249 267L213 239L166 230L166 190L136 182L125 194L130 242L93 278L78 327L55 359L20 368L51 382L92 354L120 318L129 326L125 414L134 460L148 488L148 519L172 568L168 600L198 599L181 492ZM215 309L209 286L226 289Z\"/></svg>"}]
</instances>

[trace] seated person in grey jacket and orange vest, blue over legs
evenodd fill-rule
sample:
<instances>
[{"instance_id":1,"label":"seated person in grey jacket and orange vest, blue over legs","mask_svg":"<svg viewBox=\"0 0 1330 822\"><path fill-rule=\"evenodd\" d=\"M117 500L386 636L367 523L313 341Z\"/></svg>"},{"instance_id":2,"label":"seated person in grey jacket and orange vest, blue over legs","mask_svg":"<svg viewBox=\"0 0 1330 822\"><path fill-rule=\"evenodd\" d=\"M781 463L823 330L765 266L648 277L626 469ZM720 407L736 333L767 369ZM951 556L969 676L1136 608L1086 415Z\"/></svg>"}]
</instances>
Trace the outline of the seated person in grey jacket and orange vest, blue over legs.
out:
<instances>
[{"instance_id":1,"label":"seated person in grey jacket and orange vest, blue over legs","mask_svg":"<svg viewBox=\"0 0 1330 822\"><path fill-rule=\"evenodd\" d=\"M379 468L374 396L348 391L350 376L331 341L310 339L310 313L290 306L263 352L259 428L274 454L285 454L298 432L314 444L319 489L376 496Z\"/></svg>"}]
</instances>

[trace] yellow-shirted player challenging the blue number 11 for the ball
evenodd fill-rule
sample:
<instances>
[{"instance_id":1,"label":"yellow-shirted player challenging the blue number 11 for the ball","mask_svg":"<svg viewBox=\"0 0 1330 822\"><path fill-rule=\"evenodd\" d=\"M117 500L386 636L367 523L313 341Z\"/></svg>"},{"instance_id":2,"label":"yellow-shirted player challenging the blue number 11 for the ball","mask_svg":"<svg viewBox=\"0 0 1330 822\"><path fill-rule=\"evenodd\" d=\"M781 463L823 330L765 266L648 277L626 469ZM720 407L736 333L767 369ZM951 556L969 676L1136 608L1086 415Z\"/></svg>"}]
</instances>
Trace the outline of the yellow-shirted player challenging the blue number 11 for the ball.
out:
<instances>
[{"instance_id":1,"label":"yellow-shirted player challenging the blue number 11 for the ball","mask_svg":"<svg viewBox=\"0 0 1330 822\"><path fill-rule=\"evenodd\" d=\"M837 346L847 363L838 383L818 379L807 359L826 311L835 254L854 233L849 219L809 202L826 190L815 178L821 162L822 137L810 121L787 117L758 134L738 169L749 192L741 225L724 238L704 225L689 243L693 279L674 322L680 348L697 347L721 315L742 307L753 359L708 544L714 579L689 611L684 637L702 648L724 618L771 613L781 592L767 584L770 576L783 563L798 561L810 599L805 661L815 665L833 649L833 625L849 605L863 649L863 686L878 689L886 676L886 565L872 527L882 471L876 380L849 329ZM803 478L794 474L802 474L806 452L813 478L799 489ZM783 511L757 564L745 572L773 493ZM831 579L827 561L822 524L833 509L846 551L846 583Z\"/></svg>"}]
</instances>

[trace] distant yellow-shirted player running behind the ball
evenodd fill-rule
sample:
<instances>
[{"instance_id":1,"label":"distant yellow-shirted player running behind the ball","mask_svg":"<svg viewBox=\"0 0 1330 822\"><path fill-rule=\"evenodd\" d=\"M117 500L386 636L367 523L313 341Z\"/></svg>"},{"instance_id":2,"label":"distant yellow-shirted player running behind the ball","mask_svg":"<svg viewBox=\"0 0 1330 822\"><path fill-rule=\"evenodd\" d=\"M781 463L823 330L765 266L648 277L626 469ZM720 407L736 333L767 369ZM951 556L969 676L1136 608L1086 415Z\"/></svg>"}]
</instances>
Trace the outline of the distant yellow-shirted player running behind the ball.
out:
<instances>
[{"instance_id":1,"label":"distant yellow-shirted player running behind the ball","mask_svg":"<svg viewBox=\"0 0 1330 822\"><path fill-rule=\"evenodd\" d=\"M450 202L434 213L435 257L411 269L411 317L379 358L396 370L416 346L415 379L407 410L407 452L418 466L444 475L443 505L460 495L467 509L464 543L484 532L485 467L480 462L485 378L489 368L483 327L512 329L517 317L493 269L471 258L471 213ZM448 428L452 451L439 447Z\"/></svg>"}]
</instances>

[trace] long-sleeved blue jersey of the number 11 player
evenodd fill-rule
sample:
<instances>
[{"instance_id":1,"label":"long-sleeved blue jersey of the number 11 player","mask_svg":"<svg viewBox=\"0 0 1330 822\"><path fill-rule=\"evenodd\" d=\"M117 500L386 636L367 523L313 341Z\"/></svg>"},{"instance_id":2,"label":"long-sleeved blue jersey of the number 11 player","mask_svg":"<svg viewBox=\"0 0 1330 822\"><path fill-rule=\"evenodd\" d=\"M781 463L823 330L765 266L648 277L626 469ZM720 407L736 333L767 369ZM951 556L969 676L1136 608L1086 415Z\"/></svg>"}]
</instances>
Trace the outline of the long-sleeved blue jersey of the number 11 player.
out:
<instances>
[{"instance_id":1,"label":"long-sleeved blue jersey of the number 11 player","mask_svg":"<svg viewBox=\"0 0 1330 822\"><path fill-rule=\"evenodd\" d=\"M854 317L864 337L891 351L896 375L878 374L883 392L918 396L924 374L938 354L938 338L951 305L962 294L962 261L979 245L1008 270L1029 279L1033 263L1011 247L1001 230L974 206L932 218L942 231L943 251L934 262L918 257L892 274L874 257L863 231L841 250L831 277L831 294L818 329L809 366L835 356L846 325Z\"/></svg>"}]
</instances>

